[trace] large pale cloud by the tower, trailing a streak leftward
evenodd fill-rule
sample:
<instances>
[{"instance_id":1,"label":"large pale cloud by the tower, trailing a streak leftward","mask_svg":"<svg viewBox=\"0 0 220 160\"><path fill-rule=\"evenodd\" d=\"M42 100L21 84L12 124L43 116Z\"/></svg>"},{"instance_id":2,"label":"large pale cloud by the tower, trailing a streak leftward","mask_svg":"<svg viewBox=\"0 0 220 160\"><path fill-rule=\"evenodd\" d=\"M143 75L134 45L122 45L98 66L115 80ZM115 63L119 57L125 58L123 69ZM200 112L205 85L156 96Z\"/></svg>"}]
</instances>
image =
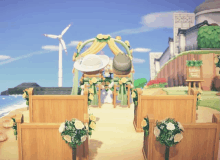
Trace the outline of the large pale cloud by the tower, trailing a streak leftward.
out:
<instances>
[{"instance_id":1,"label":"large pale cloud by the tower, trailing a streak leftward","mask_svg":"<svg viewBox=\"0 0 220 160\"><path fill-rule=\"evenodd\" d=\"M137 34L142 32L152 31L157 28L173 28L173 13L185 11L170 11L150 13L141 17L141 27L135 29L124 29L110 33L112 37L125 34Z\"/></svg>"}]
</instances>

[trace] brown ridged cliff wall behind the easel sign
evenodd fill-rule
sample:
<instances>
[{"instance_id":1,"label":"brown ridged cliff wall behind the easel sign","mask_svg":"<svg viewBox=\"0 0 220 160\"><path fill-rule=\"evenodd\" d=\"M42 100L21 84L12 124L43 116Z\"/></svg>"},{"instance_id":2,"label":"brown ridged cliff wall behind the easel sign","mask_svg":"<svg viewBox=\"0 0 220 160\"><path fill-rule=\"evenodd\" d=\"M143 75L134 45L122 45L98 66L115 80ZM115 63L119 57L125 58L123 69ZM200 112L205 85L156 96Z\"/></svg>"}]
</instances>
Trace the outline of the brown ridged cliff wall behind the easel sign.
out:
<instances>
[{"instance_id":1,"label":"brown ridged cliff wall behind the easel sign","mask_svg":"<svg viewBox=\"0 0 220 160\"><path fill-rule=\"evenodd\" d=\"M203 79L201 87L203 90L211 90L213 79L216 74L217 67L214 63L214 53L209 54L186 54L178 56L173 61L165 64L157 75L157 78L166 78L168 87L187 86L186 82L186 60L202 60L203 61ZM161 66L162 67L162 66ZM198 86L198 84L196 84Z\"/></svg>"}]
</instances>

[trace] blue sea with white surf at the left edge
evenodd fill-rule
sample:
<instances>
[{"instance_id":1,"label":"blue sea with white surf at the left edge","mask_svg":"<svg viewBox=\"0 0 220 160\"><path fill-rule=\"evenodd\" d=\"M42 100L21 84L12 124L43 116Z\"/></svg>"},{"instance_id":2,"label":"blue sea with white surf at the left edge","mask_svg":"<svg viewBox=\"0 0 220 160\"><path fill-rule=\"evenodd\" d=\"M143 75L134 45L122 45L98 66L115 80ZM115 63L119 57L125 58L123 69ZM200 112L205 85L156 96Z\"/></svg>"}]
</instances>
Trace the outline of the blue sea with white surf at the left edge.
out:
<instances>
[{"instance_id":1,"label":"blue sea with white surf at the left edge","mask_svg":"<svg viewBox=\"0 0 220 160\"><path fill-rule=\"evenodd\" d=\"M0 95L0 118L23 107L27 107L27 105L22 95Z\"/></svg>"}]
</instances>

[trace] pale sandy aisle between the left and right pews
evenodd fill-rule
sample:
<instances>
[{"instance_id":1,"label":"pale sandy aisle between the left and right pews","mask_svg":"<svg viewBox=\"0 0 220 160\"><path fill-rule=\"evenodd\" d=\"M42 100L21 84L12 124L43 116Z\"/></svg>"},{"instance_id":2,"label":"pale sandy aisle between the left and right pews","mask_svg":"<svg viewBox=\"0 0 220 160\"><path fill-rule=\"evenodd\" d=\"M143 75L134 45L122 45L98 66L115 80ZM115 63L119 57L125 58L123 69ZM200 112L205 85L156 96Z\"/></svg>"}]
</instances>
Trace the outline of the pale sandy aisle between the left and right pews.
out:
<instances>
[{"instance_id":1,"label":"pale sandy aisle between the left and right pews","mask_svg":"<svg viewBox=\"0 0 220 160\"><path fill-rule=\"evenodd\" d=\"M89 138L89 160L144 160L142 155L144 133L133 126L134 105L131 108L89 107L97 118L96 129Z\"/></svg>"}]
</instances>

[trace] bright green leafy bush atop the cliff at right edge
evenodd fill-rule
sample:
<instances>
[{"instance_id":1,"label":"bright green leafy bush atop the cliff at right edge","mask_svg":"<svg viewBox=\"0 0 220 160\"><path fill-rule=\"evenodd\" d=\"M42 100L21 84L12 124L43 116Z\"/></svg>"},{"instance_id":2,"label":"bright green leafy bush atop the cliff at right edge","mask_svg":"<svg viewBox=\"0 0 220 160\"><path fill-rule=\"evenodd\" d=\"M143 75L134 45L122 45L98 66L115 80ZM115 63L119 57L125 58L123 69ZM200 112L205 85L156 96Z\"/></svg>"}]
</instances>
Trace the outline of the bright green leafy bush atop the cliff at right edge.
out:
<instances>
[{"instance_id":1,"label":"bright green leafy bush atop the cliff at right edge","mask_svg":"<svg viewBox=\"0 0 220 160\"><path fill-rule=\"evenodd\" d=\"M198 48L220 48L220 27L203 26L199 28Z\"/></svg>"}]
</instances>

